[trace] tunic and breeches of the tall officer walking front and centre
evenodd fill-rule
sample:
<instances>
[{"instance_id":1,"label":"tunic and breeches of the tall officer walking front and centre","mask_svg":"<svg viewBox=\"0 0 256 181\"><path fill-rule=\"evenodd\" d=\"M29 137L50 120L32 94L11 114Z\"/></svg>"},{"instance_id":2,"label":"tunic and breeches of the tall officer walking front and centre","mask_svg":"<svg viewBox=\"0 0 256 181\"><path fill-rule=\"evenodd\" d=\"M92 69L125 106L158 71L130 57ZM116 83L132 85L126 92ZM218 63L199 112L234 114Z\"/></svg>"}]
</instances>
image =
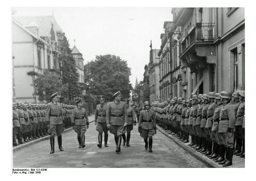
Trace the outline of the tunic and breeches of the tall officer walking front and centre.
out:
<instances>
[{"instance_id":1,"label":"tunic and breeches of the tall officer walking front and centre","mask_svg":"<svg viewBox=\"0 0 256 181\"><path fill-rule=\"evenodd\" d=\"M109 132L117 136L125 134L124 123L128 123L125 103L110 102L106 110L106 124L110 124Z\"/></svg>"}]
</instances>

